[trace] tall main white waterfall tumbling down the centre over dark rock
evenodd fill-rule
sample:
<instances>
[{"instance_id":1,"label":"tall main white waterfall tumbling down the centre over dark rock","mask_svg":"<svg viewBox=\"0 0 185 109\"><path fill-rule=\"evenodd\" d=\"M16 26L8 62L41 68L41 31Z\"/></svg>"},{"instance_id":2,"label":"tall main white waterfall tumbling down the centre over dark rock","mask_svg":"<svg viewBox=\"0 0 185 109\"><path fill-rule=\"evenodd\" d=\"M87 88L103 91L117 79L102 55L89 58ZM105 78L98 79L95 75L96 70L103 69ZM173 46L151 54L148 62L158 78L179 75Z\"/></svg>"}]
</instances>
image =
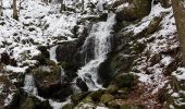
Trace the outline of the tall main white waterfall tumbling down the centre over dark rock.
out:
<instances>
[{"instance_id":1,"label":"tall main white waterfall tumbling down the centre over dark rock","mask_svg":"<svg viewBox=\"0 0 185 109\"><path fill-rule=\"evenodd\" d=\"M98 68L106 60L108 52L111 51L111 32L115 23L115 14L110 13L107 22L98 22L92 25L89 36L86 38L83 50L86 50L89 41L94 41L94 60L78 70L77 74L86 82L90 90L96 90L102 86L98 84ZM88 53L86 53L88 57Z\"/></svg>"}]
</instances>

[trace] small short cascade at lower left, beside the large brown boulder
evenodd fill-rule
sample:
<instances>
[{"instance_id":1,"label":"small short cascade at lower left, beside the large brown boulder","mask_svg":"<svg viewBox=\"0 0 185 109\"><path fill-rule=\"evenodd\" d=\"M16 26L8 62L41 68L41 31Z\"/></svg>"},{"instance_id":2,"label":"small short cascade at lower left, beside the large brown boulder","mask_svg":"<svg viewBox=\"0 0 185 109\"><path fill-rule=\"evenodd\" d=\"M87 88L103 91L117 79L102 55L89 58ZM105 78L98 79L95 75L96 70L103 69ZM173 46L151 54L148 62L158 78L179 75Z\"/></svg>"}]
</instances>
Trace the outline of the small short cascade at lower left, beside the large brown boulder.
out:
<instances>
[{"instance_id":1,"label":"small short cascade at lower left, beside the large brown boulder","mask_svg":"<svg viewBox=\"0 0 185 109\"><path fill-rule=\"evenodd\" d=\"M30 95L37 96L37 88L35 86L35 81L34 81L33 74L25 75L23 89Z\"/></svg>"}]
</instances>

